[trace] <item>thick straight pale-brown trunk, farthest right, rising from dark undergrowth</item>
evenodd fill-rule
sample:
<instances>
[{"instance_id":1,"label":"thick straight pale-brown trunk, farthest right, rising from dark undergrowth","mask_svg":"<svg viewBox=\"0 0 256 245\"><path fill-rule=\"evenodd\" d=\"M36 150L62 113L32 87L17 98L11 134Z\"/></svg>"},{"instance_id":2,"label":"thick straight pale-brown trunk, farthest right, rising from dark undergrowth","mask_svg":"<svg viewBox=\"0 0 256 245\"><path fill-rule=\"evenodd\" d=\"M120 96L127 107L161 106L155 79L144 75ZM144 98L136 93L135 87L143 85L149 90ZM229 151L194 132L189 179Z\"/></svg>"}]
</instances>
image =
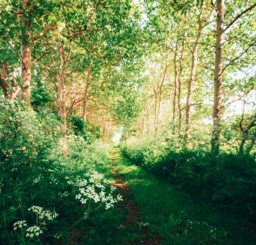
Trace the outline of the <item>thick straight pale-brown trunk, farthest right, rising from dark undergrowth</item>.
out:
<instances>
[{"instance_id":1,"label":"thick straight pale-brown trunk, farthest right, rising from dark undergrowth","mask_svg":"<svg viewBox=\"0 0 256 245\"><path fill-rule=\"evenodd\" d=\"M214 69L214 105L213 105L213 131L212 153L218 154L221 136L221 109L222 109L222 71L224 49L224 0L216 1L216 46L215 46L215 69Z\"/></svg>"}]
</instances>

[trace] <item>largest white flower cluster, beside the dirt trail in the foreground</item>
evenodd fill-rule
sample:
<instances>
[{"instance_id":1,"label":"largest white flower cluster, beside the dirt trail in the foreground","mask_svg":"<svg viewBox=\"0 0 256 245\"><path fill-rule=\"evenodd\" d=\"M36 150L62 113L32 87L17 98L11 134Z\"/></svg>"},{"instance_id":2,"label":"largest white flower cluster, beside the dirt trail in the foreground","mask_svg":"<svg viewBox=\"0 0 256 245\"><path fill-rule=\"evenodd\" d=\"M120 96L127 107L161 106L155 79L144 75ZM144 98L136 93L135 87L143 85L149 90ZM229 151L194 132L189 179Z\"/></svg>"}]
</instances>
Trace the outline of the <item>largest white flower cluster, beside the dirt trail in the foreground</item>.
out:
<instances>
[{"instance_id":1,"label":"largest white flower cluster, beside the dirt trail in the foreground","mask_svg":"<svg viewBox=\"0 0 256 245\"><path fill-rule=\"evenodd\" d=\"M79 194L76 195L76 199L82 204L86 204L88 200L93 200L95 203L101 202L105 205L105 209L109 209L113 207L114 203L122 200L119 194L113 197L113 191L116 188L112 185L110 193L106 193L105 185L108 183L108 180L104 178L103 174L95 171L92 174L84 174L84 177L77 177L76 183L74 184L79 187ZM70 180L68 182L73 184Z\"/></svg>"}]
</instances>

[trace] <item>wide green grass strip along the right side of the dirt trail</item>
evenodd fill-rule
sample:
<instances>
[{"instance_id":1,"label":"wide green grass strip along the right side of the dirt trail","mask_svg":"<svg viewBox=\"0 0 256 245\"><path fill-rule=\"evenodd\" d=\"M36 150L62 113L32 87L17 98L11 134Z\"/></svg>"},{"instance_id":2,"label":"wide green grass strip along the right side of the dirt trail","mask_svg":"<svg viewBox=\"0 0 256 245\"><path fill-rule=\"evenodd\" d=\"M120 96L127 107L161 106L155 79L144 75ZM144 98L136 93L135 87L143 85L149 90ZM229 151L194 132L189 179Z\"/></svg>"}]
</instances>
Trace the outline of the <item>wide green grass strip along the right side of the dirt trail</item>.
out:
<instances>
[{"instance_id":1,"label":"wide green grass strip along the right side of the dirt trail","mask_svg":"<svg viewBox=\"0 0 256 245\"><path fill-rule=\"evenodd\" d=\"M163 237L163 245L255 244L255 234L243 220L177 190L128 160L119 158L116 165L141 207L143 220Z\"/></svg>"}]
</instances>

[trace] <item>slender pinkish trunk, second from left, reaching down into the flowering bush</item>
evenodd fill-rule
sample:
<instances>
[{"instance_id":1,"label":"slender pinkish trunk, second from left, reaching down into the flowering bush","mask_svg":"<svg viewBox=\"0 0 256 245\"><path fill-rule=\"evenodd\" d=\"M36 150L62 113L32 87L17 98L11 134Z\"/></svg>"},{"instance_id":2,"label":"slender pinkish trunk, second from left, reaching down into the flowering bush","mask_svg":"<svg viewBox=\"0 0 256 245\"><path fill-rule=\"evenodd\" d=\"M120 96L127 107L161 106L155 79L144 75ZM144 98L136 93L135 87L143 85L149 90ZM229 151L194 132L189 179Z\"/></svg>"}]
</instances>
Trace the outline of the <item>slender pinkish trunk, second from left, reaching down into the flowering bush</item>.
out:
<instances>
[{"instance_id":1,"label":"slender pinkish trunk, second from left, reaching down into the flowering bush","mask_svg":"<svg viewBox=\"0 0 256 245\"><path fill-rule=\"evenodd\" d=\"M64 51L64 43L62 36L60 37L60 57L61 57L61 72L59 77L59 93L60 93L60 116L63 120L63 137L61 140L64 157L67 157L67 112L66 112L66 85L64 83L65 78L65 68L66 68L66 60L65 60L65 51Z\"/></svg>"}]
</instances>

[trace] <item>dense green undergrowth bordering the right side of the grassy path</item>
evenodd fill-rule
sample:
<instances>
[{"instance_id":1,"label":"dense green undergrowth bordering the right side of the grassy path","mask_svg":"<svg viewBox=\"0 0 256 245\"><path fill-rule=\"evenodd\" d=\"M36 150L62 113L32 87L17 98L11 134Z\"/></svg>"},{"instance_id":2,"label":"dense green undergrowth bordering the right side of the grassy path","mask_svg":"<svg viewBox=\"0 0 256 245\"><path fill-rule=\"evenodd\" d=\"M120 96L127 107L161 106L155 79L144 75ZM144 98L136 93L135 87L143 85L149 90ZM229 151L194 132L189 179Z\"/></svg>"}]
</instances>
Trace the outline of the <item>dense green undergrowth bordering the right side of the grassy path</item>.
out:
<instances>
[{"instance_id":1,"label":"dense green undergrowth bordering the right side of the grassy path","mask_svg":"<svg viewBox=\"0 0 256 245\"><path fill-rule=\"evenodd\" d=\"M184 148L162 135L131 139L122 145L122 152L135 164L169 179L179 188L237 214L256 217L254 157L226 152L215 157L206 148L205 145L197 149Z\"/></svg>"}]
</instances>

